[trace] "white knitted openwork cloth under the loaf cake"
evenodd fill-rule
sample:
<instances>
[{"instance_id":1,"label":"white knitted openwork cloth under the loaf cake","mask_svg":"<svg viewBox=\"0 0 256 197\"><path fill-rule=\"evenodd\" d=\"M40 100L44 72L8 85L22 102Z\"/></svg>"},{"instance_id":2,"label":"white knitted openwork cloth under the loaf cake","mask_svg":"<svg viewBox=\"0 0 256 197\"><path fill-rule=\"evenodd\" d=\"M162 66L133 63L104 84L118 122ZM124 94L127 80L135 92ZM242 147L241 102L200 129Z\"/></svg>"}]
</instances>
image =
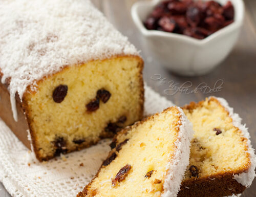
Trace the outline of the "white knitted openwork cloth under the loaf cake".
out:
<instances>
[{"instance_id":1,"label":"white knitted openwork cloth under the loaf cake","mask_svg":"<svg viewBox=\"0 0 256 197\"><path fill-rule=\"evenodd\" d=\"M147 116L173 103L145 86L144 105ZM110 140L102 140L62 159L39 163L0 119L0 181L15 197L75 197L108 156L109 144Z\"/></svg>"}]
</instances>

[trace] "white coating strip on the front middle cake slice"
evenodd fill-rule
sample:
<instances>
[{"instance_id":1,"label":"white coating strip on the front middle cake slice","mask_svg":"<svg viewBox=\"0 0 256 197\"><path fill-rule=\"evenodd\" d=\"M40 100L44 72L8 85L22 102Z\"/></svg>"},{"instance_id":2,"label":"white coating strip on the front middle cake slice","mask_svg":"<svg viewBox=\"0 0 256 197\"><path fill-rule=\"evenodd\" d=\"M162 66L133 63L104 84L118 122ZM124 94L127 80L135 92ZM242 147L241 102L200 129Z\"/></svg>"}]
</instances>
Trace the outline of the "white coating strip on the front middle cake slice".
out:
<instances>
[{"instance_id":1,"label":"white coating strip on the front middle cake slice","mask_svg":"<svg viewBox=\"0 0 256 197\"><path fill-rule=\"evenodd\" d=\"M194 130L183 110L180 107L177 108L180 111L181 125L179 127L178 139L175 142L175 155L172 161L166 166L167 174L163 184L164 193L161 197L177 196L185 170L189 164L190 141L193 138Z\"/></svg>"}]
</instances>

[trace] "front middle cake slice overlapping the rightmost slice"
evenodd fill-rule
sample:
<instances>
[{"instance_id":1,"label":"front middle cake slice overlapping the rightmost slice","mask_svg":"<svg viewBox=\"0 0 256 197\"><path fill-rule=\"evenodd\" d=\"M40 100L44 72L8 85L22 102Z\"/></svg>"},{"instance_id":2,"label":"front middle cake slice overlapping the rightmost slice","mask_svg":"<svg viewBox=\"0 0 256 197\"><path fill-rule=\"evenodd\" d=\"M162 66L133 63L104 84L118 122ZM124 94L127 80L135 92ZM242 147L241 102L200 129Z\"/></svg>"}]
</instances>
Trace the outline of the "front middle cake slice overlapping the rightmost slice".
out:
<instances>
[{"instance_id":1,"label":"front middle cake slice overlapping the rightmost slice","mask_svg":"<svg viewBox=\"0 0 256 197\"><path fill-rule=\"evenodd\" d=\"M179 107L126 127L114 137L108 158L77 197L177 196L193 133Z\"/></svg>"}]
</instances>

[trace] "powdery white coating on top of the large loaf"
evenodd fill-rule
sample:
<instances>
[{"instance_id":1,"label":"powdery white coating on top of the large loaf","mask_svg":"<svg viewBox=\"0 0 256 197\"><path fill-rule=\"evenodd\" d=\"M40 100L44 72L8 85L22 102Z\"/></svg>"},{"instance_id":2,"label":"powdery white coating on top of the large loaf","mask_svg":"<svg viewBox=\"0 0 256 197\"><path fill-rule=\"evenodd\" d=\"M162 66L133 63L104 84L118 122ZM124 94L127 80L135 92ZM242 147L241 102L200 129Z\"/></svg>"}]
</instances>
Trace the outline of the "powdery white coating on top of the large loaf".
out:
<instances>
[{"instance_id":1,"label":"powdery white coating on top of the large loaf","mask_svg":"<svg viewBox=\"0 0 256 197\"><path fill-rule=\"evenodd\" d=\"M28 85L90 60L138 55L89 0L0 1L0 69L17 120L15 93L22 99Z\"/></svg>"}]
</instances>

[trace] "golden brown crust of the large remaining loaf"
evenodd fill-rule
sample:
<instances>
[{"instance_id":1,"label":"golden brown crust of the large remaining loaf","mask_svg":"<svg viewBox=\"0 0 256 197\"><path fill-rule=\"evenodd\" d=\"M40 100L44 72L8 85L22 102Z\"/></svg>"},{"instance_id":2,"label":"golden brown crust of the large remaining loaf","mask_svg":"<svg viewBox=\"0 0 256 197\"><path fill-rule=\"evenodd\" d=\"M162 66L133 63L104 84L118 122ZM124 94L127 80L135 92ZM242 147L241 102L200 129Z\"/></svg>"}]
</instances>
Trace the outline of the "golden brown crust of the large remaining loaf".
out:
<instances>
[{"instance_id":1,"label":"golden brown crust of the large remaining loaf","mask_svg":"<svg viewBox=\"0 0 256 197\"><path fill-rule=\"evenodd\" d=\"M132 55L120 55L120 56L115 56L115 57L135 57L138 59L138 67L140 68L139 72L139 80L140 80L140 112L139 112L139 117L140 119L143 117L143 106L144 106L144 86L143 86L143 76L142 76L142 71L143 71L143 60L139 56L132 56ZM115 58L112 57L112 58ZM107 60L107 59L105 59ZM104 60L102 60L104 61ZM82 64L82 63L81 63ZM65 69L68 69L68 65L63 67L63 69L59 72L56 72L53 75L56 75L57 73L63 72ZM0 70L0 79L3 76L3 73ZM48 77L51 77L48 76ZM36 83L37 85L44 81L46 77L38 80ZM10 80L10 79L9 79ZM35 94L35 92L32 91L32 87L28 86L26 92L23 95L23 102L20 101L19 96L16 94L16 106L17 106L17 112L18 112L18 122L15 122L13 119L13 114L11 110L11 103L10 103L10 95L8 91L8 85L9 81L7 80L5 84L2 84L0 82L0 95L1 95L1 102L0 102L0 117L6 122L6 124L11 128L13 133L17 136L17 138L22 141L26 147L31 149L31 143L33 146L33 150L35 152L36 158L39 161L47 161L49 159L54 158L54 155L48 156L48 157L41 157L39 154L39 150L36 146L36 142L39 139L36 139L36 135L34 130L32 129L32 118L30 115L29 111L29 106L27 102L27 95L28 94ZM4 95L4 96L3 96ZM31 142L28 140L28 132L29 130L30 135L31 135ZM114 134L105 134L104 131L102 131L102 134L100 135L100 138L97 141L94 142L88 142L88 143L82 143L74 148L69 148L68 152L72 152L75 150L80 150L83 148L90 147L91 145L96 144L98 141L100 141L103 138L110 138L113 137Z\"/></svg>"}]
</instances>

